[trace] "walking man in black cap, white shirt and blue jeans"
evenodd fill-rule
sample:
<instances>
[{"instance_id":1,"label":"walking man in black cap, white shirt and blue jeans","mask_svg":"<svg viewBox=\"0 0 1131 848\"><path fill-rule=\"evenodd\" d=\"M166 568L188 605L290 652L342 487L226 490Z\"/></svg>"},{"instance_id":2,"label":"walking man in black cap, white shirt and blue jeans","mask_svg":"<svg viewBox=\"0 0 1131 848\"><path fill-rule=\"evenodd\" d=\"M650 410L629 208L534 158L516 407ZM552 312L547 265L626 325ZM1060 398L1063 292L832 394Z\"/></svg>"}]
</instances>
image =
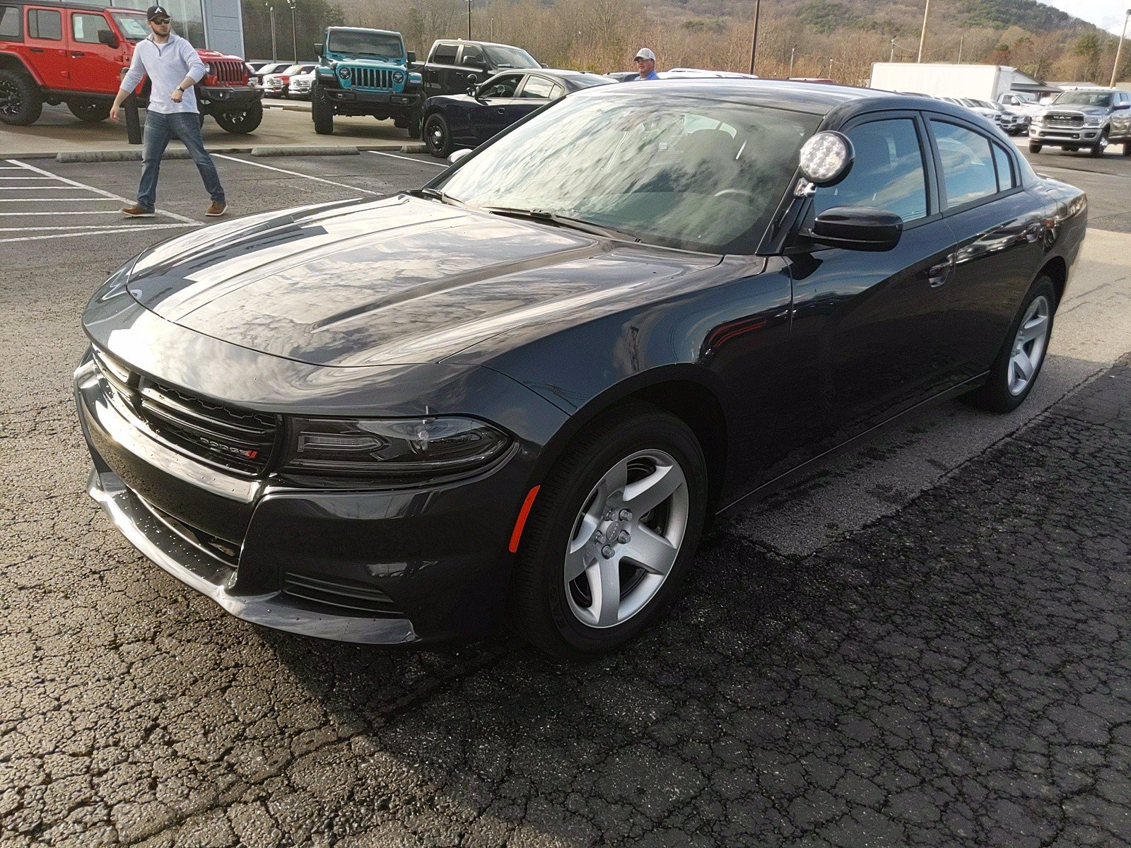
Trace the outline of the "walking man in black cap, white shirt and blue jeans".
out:
<instances>
[{"instance_id":1,"label":"walking man in black cap, white shirt and blue jeans","mask_svg":"<svg viewBox=\"0 0 1131 848\"><path fill-rule=\"evenodd\" d=\"M204 79L207 68L200 54L189 42L172 31L172 20L164 6L146 9L149 21L149 37L133 49L133 61L122 78L121 88L110 109L110 116L118 120L118 109L130 93L137 88L143 75L149 75L149 105L145 116L145 138L141 153L141 184L138 185L138 201L122 209L122 215L131 218L152 218L157 204L157 175L161 157L172 138L179 138L197 163L197 170L205 181L205 189L211 196L211 205L205 215L223 215L227 207L224 187L219 184L216 164L205 150L200 133L200 114L197 111L197 95L192 87Z\"/></svg>"}]
</instances>

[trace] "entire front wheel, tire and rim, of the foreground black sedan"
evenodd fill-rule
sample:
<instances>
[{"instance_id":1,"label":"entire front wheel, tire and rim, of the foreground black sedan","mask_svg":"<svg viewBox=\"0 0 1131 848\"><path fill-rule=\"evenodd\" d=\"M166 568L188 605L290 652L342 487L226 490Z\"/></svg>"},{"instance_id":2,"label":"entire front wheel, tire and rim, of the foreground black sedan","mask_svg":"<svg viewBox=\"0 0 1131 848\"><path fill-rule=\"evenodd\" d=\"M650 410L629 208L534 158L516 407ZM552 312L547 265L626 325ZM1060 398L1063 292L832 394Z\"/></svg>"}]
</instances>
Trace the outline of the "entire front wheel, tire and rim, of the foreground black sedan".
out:
<instances>
[{"instance_id":1,"label":"entire front wheel, tire and rim, of the foreground black sedan","mask_svg":"<svg viewBox=\"0 0 1131 848\"><path fill-rule=\"evenodd\" d=\"M637 492L646 511L633 516L624 482L647 479L656 485ZM649 404L601 416L570 444L534 502L511 586L515 630L567 660L622 648L675 596L706 514L706 460L682 421ZM630 562L633 554L651 568ZM602 604L608 586L615 599Z\"/></svg>"}]
</instances>

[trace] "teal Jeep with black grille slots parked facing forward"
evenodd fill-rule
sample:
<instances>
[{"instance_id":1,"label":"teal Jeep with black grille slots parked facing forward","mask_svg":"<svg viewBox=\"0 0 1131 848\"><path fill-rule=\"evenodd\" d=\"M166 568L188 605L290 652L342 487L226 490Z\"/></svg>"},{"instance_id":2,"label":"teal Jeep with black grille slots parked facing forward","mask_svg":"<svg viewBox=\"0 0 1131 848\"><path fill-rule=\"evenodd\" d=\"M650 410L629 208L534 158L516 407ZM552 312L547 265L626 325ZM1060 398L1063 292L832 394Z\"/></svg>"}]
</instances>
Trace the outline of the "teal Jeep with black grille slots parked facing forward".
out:
<instances>
[{"instance_id":1,"label":"teal Jeep with black grille slots parked facing forward","mask_svg":"<svg viewBox=\"0 0 1131 848\"><path fill-rule=\"evenodd\" d=\"M334 115L373 115L420 138L423 89L412 70L415 54L400 33L331 26L316 44L318 69L310 90L314 132L334 132Z\"/></svg>"}]
</instances>

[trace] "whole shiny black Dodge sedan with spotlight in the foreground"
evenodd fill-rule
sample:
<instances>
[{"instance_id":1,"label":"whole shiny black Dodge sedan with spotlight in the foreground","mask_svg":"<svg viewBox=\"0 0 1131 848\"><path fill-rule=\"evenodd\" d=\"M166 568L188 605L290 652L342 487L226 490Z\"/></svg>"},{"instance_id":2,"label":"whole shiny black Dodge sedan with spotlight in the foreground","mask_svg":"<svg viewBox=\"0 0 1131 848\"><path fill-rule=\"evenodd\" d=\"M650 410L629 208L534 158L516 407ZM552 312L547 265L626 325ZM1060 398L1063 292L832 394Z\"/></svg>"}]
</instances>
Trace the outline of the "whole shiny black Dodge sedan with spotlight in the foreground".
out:
<instances>
[{"instance_id":1,"label":"whole shiny black Dodge sedan with spotlight in the foreground","mask_svg":"<svg viewBox=\"0 0 1131 848\"><path fill-rule=\"evenodd\" d=\"M122 266L75 374L89 492L250 622L607 651L709 517L927 401L1025 400L1085 223L940 101L594 87L417 191Z\"/></svg>"}]
</instances>

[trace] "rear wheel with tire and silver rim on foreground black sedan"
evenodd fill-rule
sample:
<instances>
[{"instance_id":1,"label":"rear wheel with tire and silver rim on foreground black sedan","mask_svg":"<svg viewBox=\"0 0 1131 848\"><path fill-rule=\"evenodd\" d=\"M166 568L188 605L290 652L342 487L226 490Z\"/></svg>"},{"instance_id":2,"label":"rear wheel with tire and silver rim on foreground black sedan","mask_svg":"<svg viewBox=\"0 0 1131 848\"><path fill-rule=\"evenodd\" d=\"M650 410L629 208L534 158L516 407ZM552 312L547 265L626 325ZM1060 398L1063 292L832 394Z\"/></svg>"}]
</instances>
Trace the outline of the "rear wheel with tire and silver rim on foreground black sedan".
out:
<instances>
[{"instance_id":1,"label":"rear wheel with tire and silver rim on foreground black sedan","mask_svg":"<svg viewBox=\"0 0 1131 848\"><path fill-rule=\"evenodd\" d=\"M1042 275L1033 282L1021 301L1021 308L1005 334L1001 351L990 366L990 378L985 386L965 395L962 399L970 406L991 413L1011 413L1019 407L1041 375L1041 366L1045 363L1052 339L1055 311L1056 288L1048 277ZM1038 329L1036 322L1042 319L1042 335L1033 336ZM1022 329L1022 322L1027 330ZM1028 340L1024 340L1026 336L1029 336ZM1024 375L1018 365L1029 369L1028 377ZM1025 382L1019 386L1021 378Z\"/></svg>"}]
</instances>

